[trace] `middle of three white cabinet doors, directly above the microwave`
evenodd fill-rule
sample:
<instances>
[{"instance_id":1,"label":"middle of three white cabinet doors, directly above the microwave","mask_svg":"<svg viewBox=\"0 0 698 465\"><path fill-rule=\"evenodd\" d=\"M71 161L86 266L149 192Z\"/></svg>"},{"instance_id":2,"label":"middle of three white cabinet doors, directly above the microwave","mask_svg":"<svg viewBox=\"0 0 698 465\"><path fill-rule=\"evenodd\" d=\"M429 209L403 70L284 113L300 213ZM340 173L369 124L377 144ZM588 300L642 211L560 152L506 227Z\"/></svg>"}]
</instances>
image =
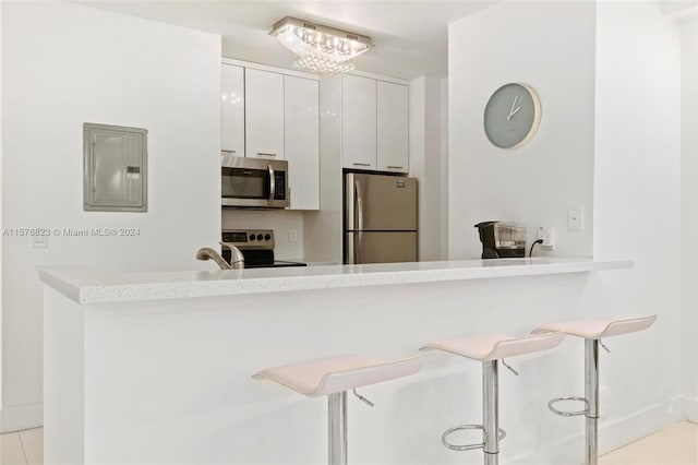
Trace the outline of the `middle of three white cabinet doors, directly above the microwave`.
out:
<instances>
[{"instance_id":1,"label":"middle of three white cabinet doors, directly above the microwave","mask_svg":"<svg viewBox=\"0 0 698 465\"><path fill-rule=\"evenodd\" d=\"M244 70L245 156L284 159L284 75Z\"/></svg>"}]
</instances>

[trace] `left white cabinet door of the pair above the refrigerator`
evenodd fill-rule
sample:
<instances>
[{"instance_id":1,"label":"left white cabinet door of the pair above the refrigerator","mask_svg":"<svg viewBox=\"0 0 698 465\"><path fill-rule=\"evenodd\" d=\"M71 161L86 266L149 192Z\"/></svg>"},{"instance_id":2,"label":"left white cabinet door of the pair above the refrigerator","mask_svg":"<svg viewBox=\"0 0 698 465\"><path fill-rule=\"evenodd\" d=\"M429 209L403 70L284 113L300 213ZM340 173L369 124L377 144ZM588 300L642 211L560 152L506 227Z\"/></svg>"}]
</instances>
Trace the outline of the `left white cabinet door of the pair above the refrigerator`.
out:
<instances>
[{"instance_id":1,"label":"left white cabinet door of the pair above the refrigerator","mask_svg":"<svg viewBox=\"0 0 698 465\"><path fill-rule=\"evenodd\" d=\"M341 163L345 168L375 169L375 80L341 78Z\"/></svg>"}]
</instances>

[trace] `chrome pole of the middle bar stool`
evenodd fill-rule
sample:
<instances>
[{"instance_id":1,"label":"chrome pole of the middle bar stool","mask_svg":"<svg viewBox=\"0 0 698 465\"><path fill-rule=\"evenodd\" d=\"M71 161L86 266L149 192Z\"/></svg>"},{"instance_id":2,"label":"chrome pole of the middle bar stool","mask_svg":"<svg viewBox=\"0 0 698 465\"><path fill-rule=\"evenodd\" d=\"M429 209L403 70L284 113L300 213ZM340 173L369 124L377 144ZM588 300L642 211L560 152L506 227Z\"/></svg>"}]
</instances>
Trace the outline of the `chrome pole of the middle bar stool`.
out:
<instances>
[{"instance_id":1,"label":"chrome pole of the middle bar stool","mask_svg":"<svg viewBox=\"0 0 698 465\"><path fill-rule=\"evenodd\" d=\"M484 429L484 464L500 460L500 392L497 360L482 362L482 427Z\"/></svg>"}]
</instances>

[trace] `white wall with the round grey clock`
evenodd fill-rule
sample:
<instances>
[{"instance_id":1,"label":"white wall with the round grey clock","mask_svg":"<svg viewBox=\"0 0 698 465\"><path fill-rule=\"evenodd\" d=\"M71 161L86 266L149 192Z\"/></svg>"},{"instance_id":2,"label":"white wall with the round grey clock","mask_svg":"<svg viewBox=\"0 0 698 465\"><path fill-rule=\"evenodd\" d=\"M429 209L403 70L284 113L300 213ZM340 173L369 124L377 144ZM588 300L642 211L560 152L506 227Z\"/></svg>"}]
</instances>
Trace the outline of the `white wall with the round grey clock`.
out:
<instances>
[{"instance_id":1,"label":"white wall with the round grey clock","mask_svg":"<svg viewBox=\"0 0 698 465\"><path fill-rule=\"evenodd\" d=\"M501 2L452 23L450 258L479 258L473 225L491 219L526 225L529 243L540 225L553 224L555 254L591 254L594 8ZM492 145L482 128L488 99L509 82L533 86L542 104L537 135L513 151ZM567 208L575 205L585 210L583 231L567 231Z\"/></svg>"}]
</instances>

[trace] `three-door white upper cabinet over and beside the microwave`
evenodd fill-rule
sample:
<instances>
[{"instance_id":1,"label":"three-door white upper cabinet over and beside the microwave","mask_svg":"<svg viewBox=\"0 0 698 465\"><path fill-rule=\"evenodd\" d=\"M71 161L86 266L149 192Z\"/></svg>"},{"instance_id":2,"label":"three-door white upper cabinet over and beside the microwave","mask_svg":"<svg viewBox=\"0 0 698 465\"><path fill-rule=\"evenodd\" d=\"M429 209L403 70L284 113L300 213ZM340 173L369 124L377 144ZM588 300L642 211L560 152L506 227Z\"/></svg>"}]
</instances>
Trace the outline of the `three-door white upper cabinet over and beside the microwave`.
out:
<instances>
[{"instance_id":1,"label":"three-door white upper cabinet over and beside the microwave","mask_svg":"<svg viewBox=\"0 0 698 465\"><path fill-rule=\"evenodd\" d=\"M320 81L224 58L221 152L288 162L289 210L320 208Z\"/></svg>"}]
</instances>

